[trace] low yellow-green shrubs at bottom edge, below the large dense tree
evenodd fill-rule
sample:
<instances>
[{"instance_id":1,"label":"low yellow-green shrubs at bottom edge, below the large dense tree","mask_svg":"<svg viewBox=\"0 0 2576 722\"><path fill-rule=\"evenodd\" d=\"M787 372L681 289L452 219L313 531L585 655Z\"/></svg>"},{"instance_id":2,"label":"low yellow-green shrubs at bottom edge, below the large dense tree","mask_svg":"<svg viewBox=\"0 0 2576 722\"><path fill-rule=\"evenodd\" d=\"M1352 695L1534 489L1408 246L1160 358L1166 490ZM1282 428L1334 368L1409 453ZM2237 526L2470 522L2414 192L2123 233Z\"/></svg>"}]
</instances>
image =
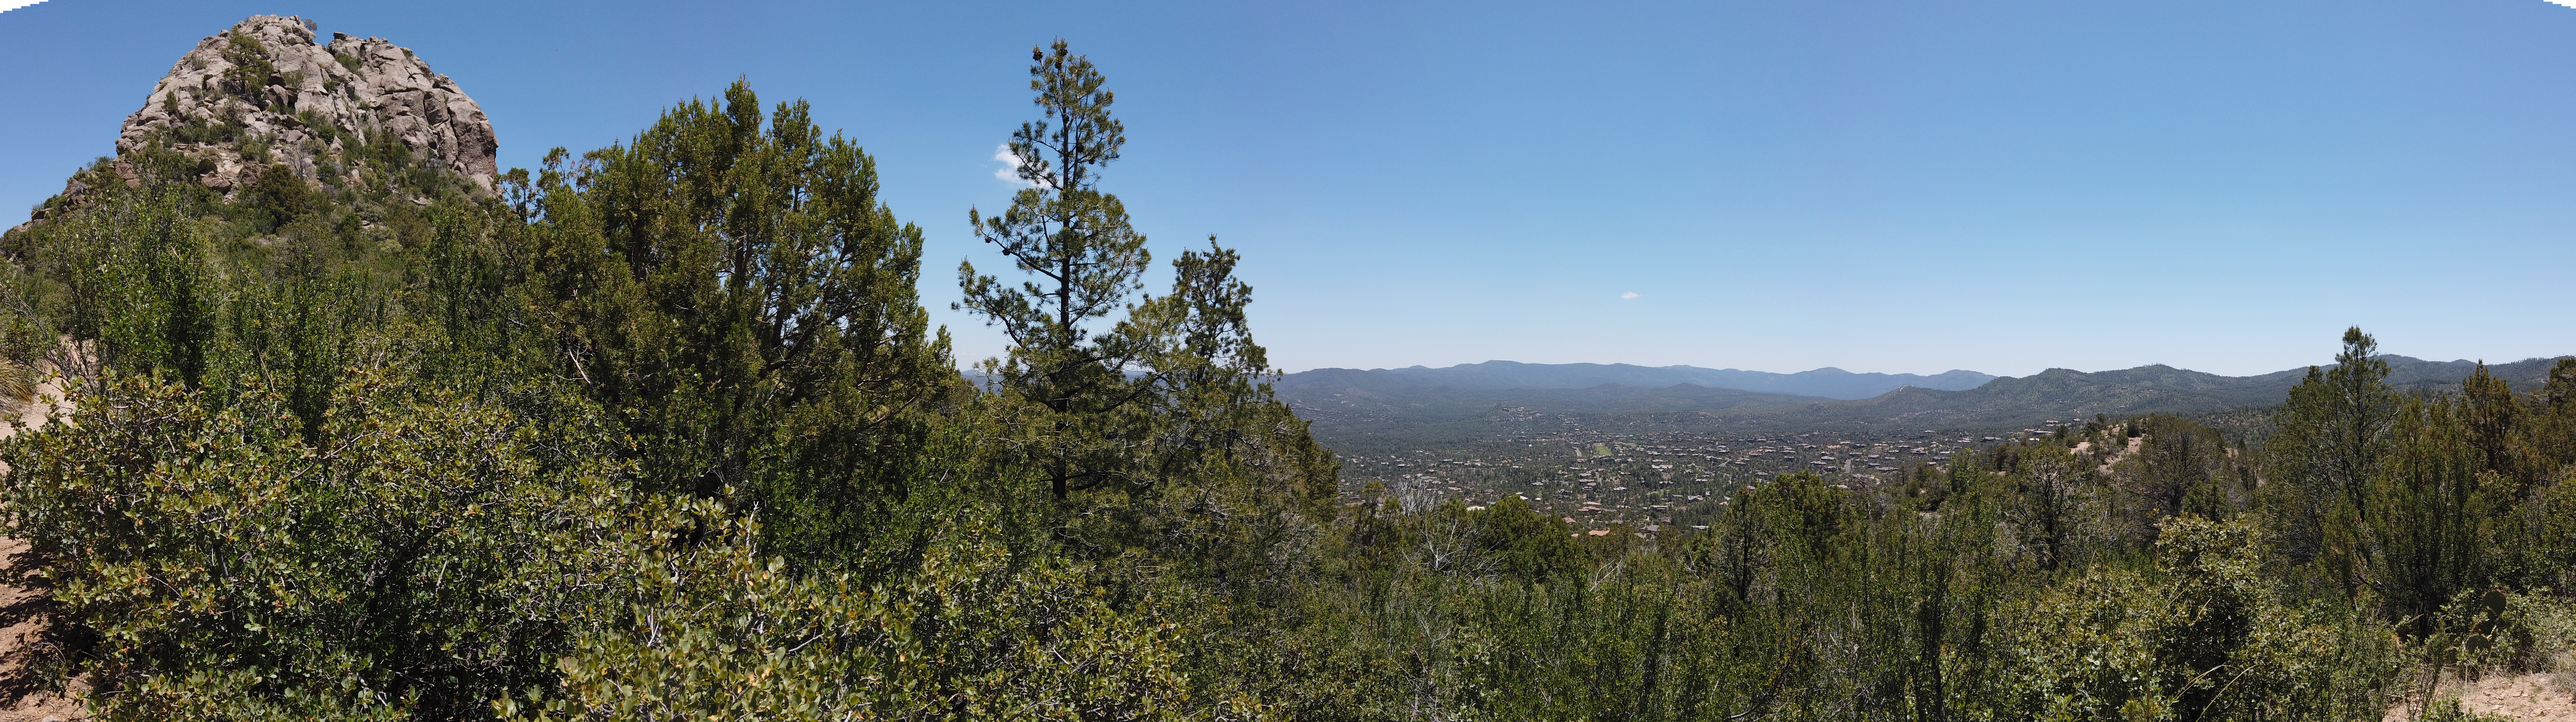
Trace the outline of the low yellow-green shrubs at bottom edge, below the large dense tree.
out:
<instances>
[{"instance_id":1,"label":"low yellow-green shrubs at bottom edge, below the large dense tree","mask_svg":"<svg viewBox=\"0 0 2576 722\"><path fill-rule=\"evenodd\" d=\"M672 516L626 542L654 549L631 611L574 642L554 699L500 701L505 719L1198 717L1172 624L1012 554L971 511L920 572L868 588L757 557L755 523L714 503Z\"/></svg>"}]
</instances>

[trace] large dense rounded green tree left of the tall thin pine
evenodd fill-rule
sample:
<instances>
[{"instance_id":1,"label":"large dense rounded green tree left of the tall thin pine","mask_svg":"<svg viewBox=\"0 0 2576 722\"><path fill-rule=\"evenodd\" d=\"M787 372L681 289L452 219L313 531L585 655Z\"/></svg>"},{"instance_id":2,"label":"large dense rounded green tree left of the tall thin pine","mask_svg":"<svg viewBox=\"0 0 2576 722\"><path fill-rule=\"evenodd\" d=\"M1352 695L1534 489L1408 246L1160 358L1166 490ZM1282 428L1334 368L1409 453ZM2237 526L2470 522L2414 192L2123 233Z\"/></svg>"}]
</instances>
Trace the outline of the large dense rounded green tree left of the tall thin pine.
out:
<instances>
[{"instance_id":1,"label":"large dense rounded green tree left of the tall thin pine","mask_svg":"<svg viewBox=\"0 0 2576 722\"><path fill-rule=\"evenodd\" d=\"M876 160L804 101L762 124L742 83L590 160L531 206L564 371L626 420L647 487L734 490L796 557L860 544L958 392L914 297L922 232L876 201Z\"/></svg>"}]
</instances>

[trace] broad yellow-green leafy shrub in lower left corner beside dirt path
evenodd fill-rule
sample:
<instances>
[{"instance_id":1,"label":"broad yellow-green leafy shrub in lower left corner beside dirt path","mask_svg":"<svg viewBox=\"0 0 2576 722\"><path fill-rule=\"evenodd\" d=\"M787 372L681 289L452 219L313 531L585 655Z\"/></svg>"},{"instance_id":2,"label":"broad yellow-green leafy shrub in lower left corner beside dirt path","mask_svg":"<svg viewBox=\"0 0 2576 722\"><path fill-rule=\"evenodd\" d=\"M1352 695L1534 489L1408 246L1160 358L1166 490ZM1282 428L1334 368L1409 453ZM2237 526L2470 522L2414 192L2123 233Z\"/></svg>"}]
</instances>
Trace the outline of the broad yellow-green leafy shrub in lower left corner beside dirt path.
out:
<instances>
[{"instance_id":1,"label":"broad yellow-green leafy shrub in lower left corner beside dirt path","mask_svg":"<svg viewBox=\"0 0 2576 722\"><path fill-rule=\"evenodd\" d=\"M379 338L376 358L399 346ZM322 420L111 374L5 441L8 518L108 719L459 717L546 681L631 523L590 423L361 366Z\"/></svg>"}]
</instances>

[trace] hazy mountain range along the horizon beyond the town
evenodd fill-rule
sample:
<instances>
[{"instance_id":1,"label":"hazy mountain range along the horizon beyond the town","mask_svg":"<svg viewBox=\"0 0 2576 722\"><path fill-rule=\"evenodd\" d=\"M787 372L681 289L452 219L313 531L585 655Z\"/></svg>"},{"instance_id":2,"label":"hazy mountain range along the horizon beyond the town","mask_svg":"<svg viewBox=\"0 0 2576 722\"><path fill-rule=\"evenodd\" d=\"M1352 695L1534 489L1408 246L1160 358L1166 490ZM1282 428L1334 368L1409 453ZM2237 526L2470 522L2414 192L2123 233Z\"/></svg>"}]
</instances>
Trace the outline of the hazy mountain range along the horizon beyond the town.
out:
<instances>
[{"instance_id":1,"label":"hazy mountain range along the horizon beyond the town","mask_svg":"<svg viewBox=\"0 0 2576 722\"><path fill-rule=\"evenodd\" d=\"M2476 361L2380 356L2401 389L2458 387ZM2514 389L2548 382L2555 358L2494 364ZM2280 405L2308 369L2218 376L2174 366L2120 371L2048 369L2030 376L1976 371L1850 374L1816 369L1762 374L1692 366L1512 364L1450 369L1314 369L1283 376L1280 400L1329 438L1355 433L1473 433L1510 413L1623 415L1656 425L1785 428L2032 428L2092 415L2208 415ZM1870 392L1875 389L1875 392ZM1860 397L1870 392L1868 397Z\"/></svg>"}]
</instances>

